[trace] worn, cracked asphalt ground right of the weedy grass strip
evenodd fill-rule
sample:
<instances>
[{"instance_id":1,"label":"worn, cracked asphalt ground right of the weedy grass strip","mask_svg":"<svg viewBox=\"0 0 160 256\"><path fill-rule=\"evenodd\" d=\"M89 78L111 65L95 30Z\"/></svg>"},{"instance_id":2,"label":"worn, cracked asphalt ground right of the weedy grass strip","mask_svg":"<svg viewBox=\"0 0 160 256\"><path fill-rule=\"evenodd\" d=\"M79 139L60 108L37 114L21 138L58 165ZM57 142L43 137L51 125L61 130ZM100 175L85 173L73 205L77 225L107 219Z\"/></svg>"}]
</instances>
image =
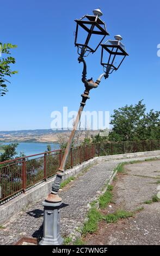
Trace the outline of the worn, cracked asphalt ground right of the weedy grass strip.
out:
<instances>
[{"instance_id":1,"label":"worn, cracked asphalt ground right of the weedy grass strip","mask_svg":"<svg viewBox=\"0 0 160 256\"><path fill-rule=\"evenodd\" d=\"M133 217L116 223L99 223L95 234L85 237L87 245L159 245L160 202L145 204L157 195L160 161L127 164L113 182L113 202L103 212L117 209L136 211ZM112 207L111 207L112 206ZM141 208L144 208L140 210Z\"/></svg>"}]
</instances>

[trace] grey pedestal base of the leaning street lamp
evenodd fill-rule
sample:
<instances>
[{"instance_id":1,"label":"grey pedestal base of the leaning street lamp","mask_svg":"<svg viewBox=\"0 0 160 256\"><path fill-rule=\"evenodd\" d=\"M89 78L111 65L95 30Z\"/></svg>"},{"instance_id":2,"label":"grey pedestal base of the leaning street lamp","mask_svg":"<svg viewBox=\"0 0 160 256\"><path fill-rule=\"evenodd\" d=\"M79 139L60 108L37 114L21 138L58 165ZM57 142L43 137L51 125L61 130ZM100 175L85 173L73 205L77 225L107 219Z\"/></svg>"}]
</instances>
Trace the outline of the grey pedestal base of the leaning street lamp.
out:
<instances>
[{"instance_id":1,"label":"grey pedestal base of the leaning street lamp","mask_svg":"<svg viewBox=\"0 0 160 256\"><path fill-rule=\"evenodd\" d=\"M60 205L62 202L51 203L44 201L44 234L39 245L61 245L60 235Z\"/></svg>"}]
</instances>

